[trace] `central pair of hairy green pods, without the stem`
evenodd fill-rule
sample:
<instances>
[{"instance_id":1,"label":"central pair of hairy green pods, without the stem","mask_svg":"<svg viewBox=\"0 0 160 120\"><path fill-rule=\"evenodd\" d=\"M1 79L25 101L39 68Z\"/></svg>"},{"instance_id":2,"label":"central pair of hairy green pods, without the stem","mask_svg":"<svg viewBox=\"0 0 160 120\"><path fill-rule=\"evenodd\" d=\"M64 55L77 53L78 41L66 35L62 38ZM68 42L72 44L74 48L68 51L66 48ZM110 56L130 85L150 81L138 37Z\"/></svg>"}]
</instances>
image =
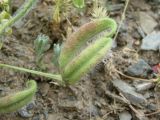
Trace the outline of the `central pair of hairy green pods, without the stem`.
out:
<instances>
[{"instance_id":1,"label":"central pair of hairy green pods, without the stem","mask_svg":"<svg viewBox=\"0 0 160 120\"><path fill-rule=\"evenodd\" d=\"M59 59L61 74L66 83L75 83L102 59L106 51L111 48L111 37L116 32L116 28L117 24L113 19L102 18L85 24L67 39ZM110 31L106 32L102 38L79 53L87 40L108 29Z\"/></svg>"}]
</instances>

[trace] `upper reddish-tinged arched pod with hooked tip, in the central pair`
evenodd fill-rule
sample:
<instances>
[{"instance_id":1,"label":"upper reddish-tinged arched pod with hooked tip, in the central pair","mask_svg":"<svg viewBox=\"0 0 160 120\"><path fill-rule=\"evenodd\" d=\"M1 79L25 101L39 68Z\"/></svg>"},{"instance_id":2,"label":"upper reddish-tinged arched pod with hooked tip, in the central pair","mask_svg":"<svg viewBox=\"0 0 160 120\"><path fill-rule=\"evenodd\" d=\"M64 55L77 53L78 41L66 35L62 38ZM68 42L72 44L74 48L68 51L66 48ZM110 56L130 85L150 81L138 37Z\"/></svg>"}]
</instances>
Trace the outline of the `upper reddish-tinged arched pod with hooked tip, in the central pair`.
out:
<instances>
[{"instance_id":1,"label":"upper reddish-tinged arched pod with hooked tip, in the central pair","mask_svg":"<svg viewBox=\"0 0 160 120\"><path fill-rule=\"evenodd\" d=\"M116 22L111 18L101 18L83 25L78 31L74 32L62 46L59 58L60 68L64 69L88 39L106 29L111 29L111 31L106 33L105 37L111 37L117 29Z\"/></svg>"}]
</instances>

